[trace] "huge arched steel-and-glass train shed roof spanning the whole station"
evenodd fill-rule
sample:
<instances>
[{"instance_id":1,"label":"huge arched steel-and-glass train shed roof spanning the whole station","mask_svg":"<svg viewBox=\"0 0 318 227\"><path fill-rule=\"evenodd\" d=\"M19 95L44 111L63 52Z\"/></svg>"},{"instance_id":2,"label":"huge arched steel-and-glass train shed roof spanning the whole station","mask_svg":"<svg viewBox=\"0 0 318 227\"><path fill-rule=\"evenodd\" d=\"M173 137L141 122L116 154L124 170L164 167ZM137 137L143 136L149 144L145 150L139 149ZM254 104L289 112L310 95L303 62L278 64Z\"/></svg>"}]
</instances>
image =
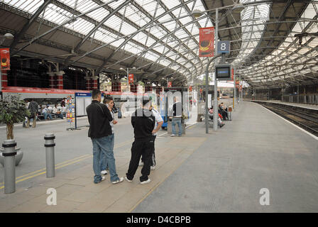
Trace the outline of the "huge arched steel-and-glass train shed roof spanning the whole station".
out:
<instances>
[{"instance_id":1,"label":"huge arched steel-and-glass train shed roof spanning the whole station","mask_svg":"<svg viewBox=\"0 0 318 227\"><path fill-rule=\"evenodd\" d=\"M241 13L232 11L238 3L244 6ZM13 57L94 69L101 82L114 74L124 76L128 69L143 82L163 85L169 79L178 86L204 74L209 58L198 57L199 28L212 27L217 19L219 40L231 42L226 61L236 67L236 74L251 87L275 88L317 83L317 4L1 0L0 33L15 36L10 44ZM194 10L204 13L195 18Z\"/></svg>"}]
</instances>

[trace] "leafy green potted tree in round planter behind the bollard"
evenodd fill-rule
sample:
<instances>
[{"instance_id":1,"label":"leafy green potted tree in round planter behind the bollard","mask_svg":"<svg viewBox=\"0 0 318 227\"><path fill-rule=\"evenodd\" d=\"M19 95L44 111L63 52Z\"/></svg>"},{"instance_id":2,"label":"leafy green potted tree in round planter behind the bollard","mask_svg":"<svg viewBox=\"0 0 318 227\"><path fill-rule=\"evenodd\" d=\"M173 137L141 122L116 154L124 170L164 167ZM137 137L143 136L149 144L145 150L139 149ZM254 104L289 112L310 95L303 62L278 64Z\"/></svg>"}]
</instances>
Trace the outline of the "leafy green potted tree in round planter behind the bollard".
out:
<instances>
[{"instance_id":1,"label":"leafy green potted tree in round planter behind the bollard","mask_svg":"<svg viewBox=\"0 0 318 227\"><path fill-rule=\"evenodd\" d=\"M13 124L24 121L26 116L31 116L31 113L26 109L26 103L20 99L19 95L9 95L3 100L0 100L0 123L6 124L6 139L13 140ZM4 156L1 148L0 162L4 165ZM16 148L16 165L21 162L23 152L20 148Z\"/></svg>"}]
</instances>

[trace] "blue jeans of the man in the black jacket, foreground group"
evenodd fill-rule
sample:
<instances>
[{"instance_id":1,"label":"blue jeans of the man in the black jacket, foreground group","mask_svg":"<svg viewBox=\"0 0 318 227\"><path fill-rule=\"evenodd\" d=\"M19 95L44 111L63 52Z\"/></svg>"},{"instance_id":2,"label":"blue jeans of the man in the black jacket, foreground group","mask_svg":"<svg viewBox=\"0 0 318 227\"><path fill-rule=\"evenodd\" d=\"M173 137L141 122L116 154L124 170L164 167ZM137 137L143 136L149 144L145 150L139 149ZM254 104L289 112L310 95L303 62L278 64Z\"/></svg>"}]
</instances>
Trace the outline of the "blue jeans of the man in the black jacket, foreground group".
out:
<instances>
[{"instance_id":1,"label":"blue jeans of the man in the black jacket, foreground group","mask_svg":"<svg viewBox=\"0 0 318 227\"><path fill-rule=\"evenodd\" d=\"M100 157L101 153L106 156L106 162L109 165L109 174L111 182L119 179L116 173L116 165L113 150L111 149L111 135L102 138L91 138L93 143L93 170L94 182L97 183L102 179Z\"/></svg>"}]
</instances>

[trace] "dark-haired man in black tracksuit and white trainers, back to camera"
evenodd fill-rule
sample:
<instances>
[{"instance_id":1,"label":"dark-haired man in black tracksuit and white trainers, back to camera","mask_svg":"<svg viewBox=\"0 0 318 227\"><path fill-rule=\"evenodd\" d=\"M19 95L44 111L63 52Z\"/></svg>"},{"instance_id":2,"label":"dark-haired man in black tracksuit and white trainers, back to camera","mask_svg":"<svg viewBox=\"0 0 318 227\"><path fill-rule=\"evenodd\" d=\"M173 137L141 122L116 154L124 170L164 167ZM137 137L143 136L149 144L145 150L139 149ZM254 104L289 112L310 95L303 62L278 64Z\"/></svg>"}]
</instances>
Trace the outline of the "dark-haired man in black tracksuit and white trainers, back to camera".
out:
<instances>
[{"instance_id":1,"label":"dark-haired man in black tracksuit and white trainers, back to camera","mask_svg":"<svg viewBox=\"0 0 318 227\"><path fill-rule=\"evenodd\" d=\"M149 110L150 99L143 97L143 108L137 109L131 115L131 125L133 126L133 133L135 141L131 147L131 161L129 162L128 172L126 173L126 180L132 182L135 175L141 155L143 155L143 168L141 169L141 184L150 182L150 165L153 154L153 127L155 126L155 116Z\"/></svg>"}]
</instances>

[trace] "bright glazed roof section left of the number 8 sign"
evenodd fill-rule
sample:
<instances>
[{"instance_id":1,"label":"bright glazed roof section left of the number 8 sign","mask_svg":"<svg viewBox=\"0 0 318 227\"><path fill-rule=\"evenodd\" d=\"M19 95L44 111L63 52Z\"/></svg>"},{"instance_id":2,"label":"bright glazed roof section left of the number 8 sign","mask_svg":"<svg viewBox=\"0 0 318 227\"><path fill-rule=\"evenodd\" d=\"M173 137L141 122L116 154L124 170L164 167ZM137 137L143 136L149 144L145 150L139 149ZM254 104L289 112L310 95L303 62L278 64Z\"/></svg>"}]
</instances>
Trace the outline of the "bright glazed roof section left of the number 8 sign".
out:
<instances>
[{"instance_id":1,"label":"bright glazed roof section left of the number 8 sign","mask_svg":"<svg viewBox=\"0 0 318 227\"><path fill-rule=\"evenodd\" d=\"M2 1L28 13L35 13L43 4L43 0ZM133 57L143 57L175 70L182 69L187 74L202 70L202 64L189 63L189 59L195 59L198 55L195 47L198 45L199 28L212 26L212 22L207 16L202 16L197 20L198 23L194 23L194 18L190 15L190 11L193 9L205 10L202 1L184 1L182 3L182 1L171 0L134 0L124 4L125 2L122 0L55 0L45 8L39 17L61 25L78 16L79 13L95 9L85 14L86 17L79 17L64 25L65 28L87 35L95 28L96 23L102 21L111 11L121 7L89 38L102 41L115 49L126 50ZM106 6L100 7L102 3L106 3ZM96 21L96 23L92 21ZM127 38L128 41L126 41ZM115 62L112 66L120 64L122 61ZM196 67L196 69L193 70L192 67Z\"/></svg>"}]
</instances>

